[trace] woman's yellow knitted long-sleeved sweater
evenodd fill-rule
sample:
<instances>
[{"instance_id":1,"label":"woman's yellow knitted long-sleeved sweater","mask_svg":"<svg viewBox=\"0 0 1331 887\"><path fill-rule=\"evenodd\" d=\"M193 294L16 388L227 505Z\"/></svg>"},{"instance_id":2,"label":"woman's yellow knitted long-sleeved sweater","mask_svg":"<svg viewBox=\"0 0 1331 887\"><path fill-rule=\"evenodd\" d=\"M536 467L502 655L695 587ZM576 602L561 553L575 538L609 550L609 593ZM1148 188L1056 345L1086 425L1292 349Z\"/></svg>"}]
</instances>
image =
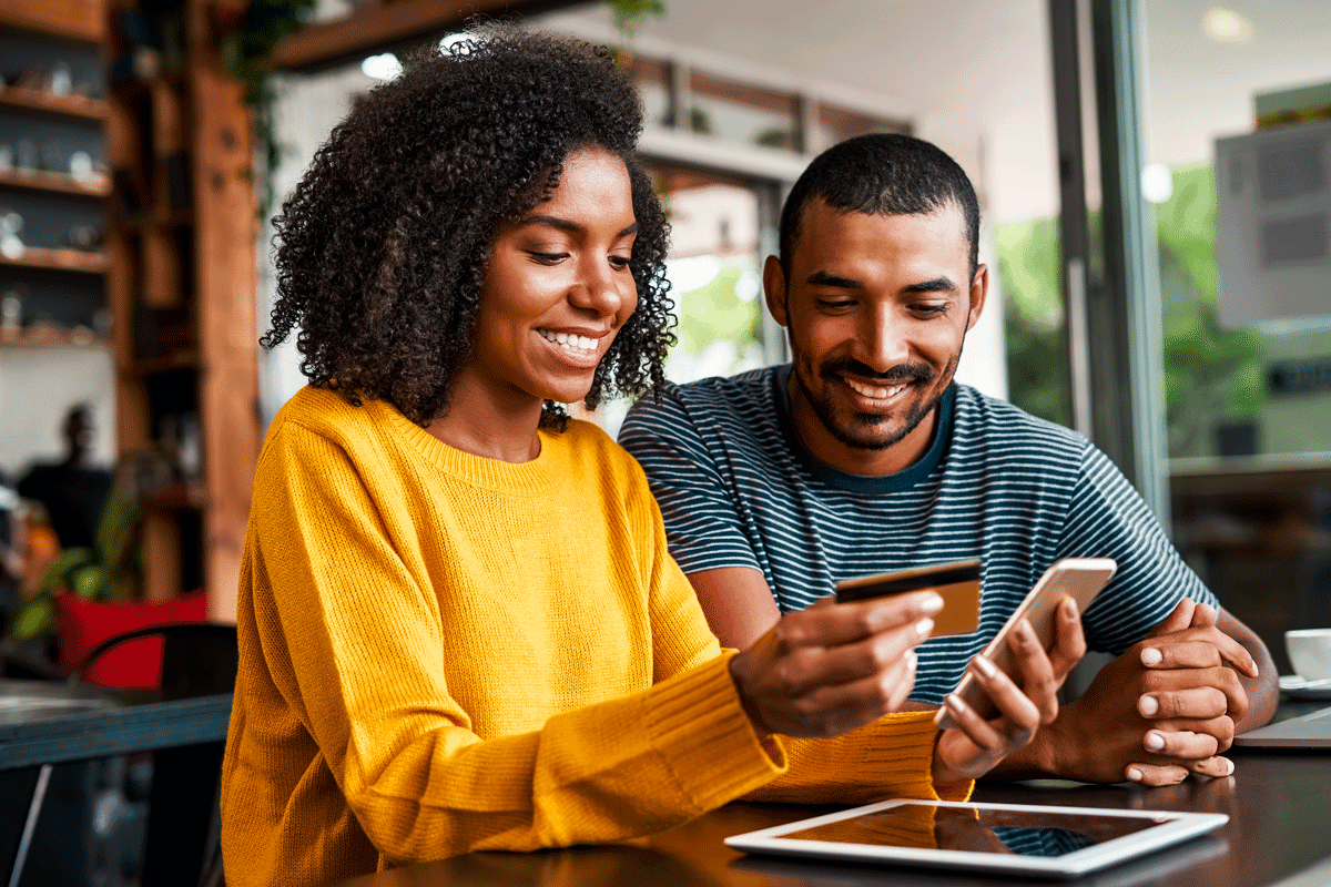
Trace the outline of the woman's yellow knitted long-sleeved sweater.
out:
<instances>
[{"instance_id":1,"label":"woman's yellow knitted long-sleeved sweater","mask_svg":"<svg viewBox=\"0 0 1331 887\"><path fill-rule=\"evenodd\" d=\"M638 464L524 464L306 388L273 422L240 586L226 880L651 834L741 795L936 797L928 713L759 741ZM765 786L765 789L764 789Z\"/></svg>"}]
</instances>

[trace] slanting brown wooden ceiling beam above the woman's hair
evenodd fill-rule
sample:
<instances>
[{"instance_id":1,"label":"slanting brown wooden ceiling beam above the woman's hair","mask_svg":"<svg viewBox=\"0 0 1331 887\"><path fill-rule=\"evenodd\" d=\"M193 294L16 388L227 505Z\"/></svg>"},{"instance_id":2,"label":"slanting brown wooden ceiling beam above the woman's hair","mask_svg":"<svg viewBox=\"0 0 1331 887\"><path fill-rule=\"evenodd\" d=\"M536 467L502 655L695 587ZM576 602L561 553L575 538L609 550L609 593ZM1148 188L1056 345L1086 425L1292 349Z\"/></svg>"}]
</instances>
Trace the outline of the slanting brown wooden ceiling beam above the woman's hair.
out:
<instances>
[{"instance_id":1,"label":"slanting brown wooden ceiling beam above the woman's hair","mask_svg":"<svg viewBox=\"0 0 1331 887\"><path fill-rule=\"evenodd\" d=\"M590 0L391 0L319 21L284 39L268 59L278 70L319 70L401 51L459 29L471 16L520 17Z\"/></svg>"}]
</instances>

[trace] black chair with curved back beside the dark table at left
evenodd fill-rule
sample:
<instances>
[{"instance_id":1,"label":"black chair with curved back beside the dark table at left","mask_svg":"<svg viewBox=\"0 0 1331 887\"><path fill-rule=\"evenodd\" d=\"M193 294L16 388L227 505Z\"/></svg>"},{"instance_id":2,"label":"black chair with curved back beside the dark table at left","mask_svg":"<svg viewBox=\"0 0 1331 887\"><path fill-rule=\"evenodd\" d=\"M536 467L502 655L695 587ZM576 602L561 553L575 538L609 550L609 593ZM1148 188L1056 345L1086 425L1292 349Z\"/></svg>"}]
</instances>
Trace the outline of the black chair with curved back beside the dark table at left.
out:
<instances>
[{"instance_id":1,"label":"black chair with curved back beside the dark table at left","mask_svg":"<svg viewBox=\"0 0 1331 887\"><path fill-rule=\"evenodd\" d=\"M162 638L162 699L213 696L234 689L238 662L236 626L210 622L152 625L106 638L84 657L67 680L81 682L92 664L108 650L144 637ZM153 753L141 887L208 887L221 883L218 777L224 749L225 742L205 742ZM53 765L48 763L37 773L9 887L20 883L52 771Z\"/></svg>"}]
</instances>

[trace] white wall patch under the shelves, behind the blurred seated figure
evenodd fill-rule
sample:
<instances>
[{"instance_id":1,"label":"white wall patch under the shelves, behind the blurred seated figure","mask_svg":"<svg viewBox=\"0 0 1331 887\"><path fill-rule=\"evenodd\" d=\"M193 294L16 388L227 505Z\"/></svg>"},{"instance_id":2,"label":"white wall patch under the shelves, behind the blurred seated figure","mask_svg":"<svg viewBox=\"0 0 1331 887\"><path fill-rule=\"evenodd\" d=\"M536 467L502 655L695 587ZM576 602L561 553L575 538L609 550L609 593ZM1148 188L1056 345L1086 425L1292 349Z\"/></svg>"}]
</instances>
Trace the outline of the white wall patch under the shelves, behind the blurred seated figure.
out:
<instances>
[{"instance_id":1,"label":"white wall patch under the shelves, behind the blurred seated figure","mask_svg":"<svg viewBox=\"0 0 1331 887\"><path fill-rule=\"evenodd\" d=\"M11 480L36 460L65 455L69 407L89 403L93 461L116 453L116 375L105 348L0 348L0 472Z\"/></svg>"}]
</instances>

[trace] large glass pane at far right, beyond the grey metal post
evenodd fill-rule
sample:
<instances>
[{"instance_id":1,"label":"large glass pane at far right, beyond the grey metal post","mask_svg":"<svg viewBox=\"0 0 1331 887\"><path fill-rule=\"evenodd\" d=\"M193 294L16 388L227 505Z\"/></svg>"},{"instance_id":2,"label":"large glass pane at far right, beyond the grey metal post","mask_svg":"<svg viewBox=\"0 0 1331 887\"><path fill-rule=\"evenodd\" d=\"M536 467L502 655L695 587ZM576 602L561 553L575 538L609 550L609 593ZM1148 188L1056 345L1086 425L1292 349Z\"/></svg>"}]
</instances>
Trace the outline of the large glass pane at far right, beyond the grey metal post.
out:
<instances>
[{"instance_id":1,"label":"large glass pane at far right, beyond the grey metal post","mask_svg":"<svg viewBox=\"0 0 1331 887\"><path fill-rule=\"evenodd\" d=\"M1331 19L1142 12L1175 543L1287 672L1331 620Z\"/></svg>"}]
</instances>

